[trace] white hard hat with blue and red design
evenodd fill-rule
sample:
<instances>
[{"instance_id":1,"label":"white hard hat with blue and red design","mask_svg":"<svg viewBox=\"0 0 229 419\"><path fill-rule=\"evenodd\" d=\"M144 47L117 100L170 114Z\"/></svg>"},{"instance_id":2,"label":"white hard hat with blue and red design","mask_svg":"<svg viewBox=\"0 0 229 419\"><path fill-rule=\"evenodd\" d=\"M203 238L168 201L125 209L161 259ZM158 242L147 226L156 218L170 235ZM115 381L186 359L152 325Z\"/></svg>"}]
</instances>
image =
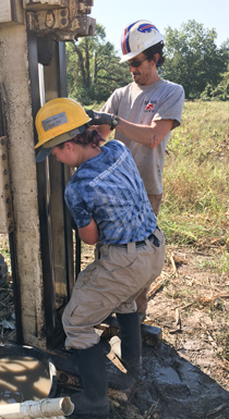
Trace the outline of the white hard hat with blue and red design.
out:
<instances>
[{"instance_id":1,"label":"white hard hat with blue and red design","mask_svg":"<svg viewBox=\"0 0 229 419\"><path fill-rule=\"evenodd\" d=\"M126 26L121 37L122 58L128 61L145 49L164 40L157 27L149 21L137 21Z\"/></svg>"}]
</instances>

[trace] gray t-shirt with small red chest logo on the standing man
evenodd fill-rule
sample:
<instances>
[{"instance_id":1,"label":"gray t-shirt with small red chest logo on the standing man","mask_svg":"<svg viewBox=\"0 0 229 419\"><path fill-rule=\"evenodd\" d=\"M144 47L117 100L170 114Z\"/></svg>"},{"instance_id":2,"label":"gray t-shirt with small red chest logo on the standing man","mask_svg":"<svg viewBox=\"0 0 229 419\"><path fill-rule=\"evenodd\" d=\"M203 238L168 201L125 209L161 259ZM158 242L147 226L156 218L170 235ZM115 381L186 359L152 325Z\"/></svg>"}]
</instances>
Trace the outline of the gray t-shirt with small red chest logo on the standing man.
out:
<instances>
[{"instance_id":1,"label":"gray t-shirt with small red chest logo on the standing man","mask_svg":"<svg viewBox=\"0 0 229 419\"><path fill-rule=\"evenodd\" d=\"M142 125L150 125L158 120L173 120L172 128L176 128L181 123L183 103L184 90L180 85L164 79L146 86L133 82L114 90L101 111ZM116 131L114 138L124 143L132 152L148 195L162 193L165 151L170 133L156 148L150 149Z\"/></svg>"}]
</instances>

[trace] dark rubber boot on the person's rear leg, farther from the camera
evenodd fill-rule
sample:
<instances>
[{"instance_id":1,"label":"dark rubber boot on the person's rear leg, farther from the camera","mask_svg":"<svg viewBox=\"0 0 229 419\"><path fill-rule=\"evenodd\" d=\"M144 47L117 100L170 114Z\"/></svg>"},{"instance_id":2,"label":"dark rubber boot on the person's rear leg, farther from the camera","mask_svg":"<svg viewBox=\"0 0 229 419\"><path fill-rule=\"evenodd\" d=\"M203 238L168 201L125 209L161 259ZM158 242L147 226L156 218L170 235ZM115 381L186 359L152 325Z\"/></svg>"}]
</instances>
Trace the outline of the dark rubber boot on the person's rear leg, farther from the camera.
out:
<instances>
[{"instance_id":1,"label":"dark rubber boot on the person's rear leg, farther from the camera","mask_svg":"<svg viewBox=\"0 0 229 419\"><path fill-rule=\"evenodd\" d=\"M128 371L137 377L142 369L142 336L138 313L137 311L128 315L117 313L117 320L120 326L121 342L118 336L113 336L110 340L111 348Z\"/></svg>"}]
</instances>

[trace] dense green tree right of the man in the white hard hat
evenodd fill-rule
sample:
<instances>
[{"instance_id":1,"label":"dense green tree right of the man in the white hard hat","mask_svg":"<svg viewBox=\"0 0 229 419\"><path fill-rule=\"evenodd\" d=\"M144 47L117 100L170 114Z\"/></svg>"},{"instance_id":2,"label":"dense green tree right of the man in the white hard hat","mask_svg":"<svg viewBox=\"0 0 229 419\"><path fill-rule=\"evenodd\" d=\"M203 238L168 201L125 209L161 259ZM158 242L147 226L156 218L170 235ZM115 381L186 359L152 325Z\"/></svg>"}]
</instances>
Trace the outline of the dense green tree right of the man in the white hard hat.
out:
<instances>
[{"instance_id":1,"label":"dense green tree right of the man in the white hard hat","mask_svg":"<svg viewBox=\"0 0 229 419\"><path fill-rule=\"evenodd\" d=\"M207 85L217 86L227 70L228 51L217 48L216 37L215 29L195 21L188 21L181 30L166 29L165 76L183 86L186 99L200 98Z\"/></svg>"}]
</instances>

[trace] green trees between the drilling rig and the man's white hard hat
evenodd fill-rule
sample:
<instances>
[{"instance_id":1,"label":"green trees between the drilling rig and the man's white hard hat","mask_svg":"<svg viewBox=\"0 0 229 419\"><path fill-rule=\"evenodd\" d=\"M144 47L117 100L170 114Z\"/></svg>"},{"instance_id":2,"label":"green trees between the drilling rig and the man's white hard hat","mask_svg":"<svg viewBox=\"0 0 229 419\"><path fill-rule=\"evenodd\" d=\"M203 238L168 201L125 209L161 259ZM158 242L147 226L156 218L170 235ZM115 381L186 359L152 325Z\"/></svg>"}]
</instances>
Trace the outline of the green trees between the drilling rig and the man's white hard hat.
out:
<instances>
[{"instance_id":1,"label":"green trees between the drilling rig and the man's white hard hat","mask_svg":"<svg viewBox=\"0 0 229 419\"><path fill-rule=\"evenodd\" d=\"M117 88L131 82L126 65L119 64L114 47L106 41L105 28L96 25L94 37L67 45L69 96L82 104L106 100Z\"/></svg>"}]
</instances>

